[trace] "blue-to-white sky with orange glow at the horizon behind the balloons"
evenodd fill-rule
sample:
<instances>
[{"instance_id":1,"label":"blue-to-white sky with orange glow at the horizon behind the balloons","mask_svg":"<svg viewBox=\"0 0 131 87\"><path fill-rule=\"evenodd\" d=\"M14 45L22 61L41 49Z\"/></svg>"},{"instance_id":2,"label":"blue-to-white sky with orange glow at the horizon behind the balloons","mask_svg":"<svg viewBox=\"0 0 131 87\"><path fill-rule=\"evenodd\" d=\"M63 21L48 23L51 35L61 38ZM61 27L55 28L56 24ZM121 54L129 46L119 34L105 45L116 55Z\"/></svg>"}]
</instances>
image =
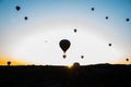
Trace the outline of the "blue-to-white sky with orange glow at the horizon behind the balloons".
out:
<instances>
[{"instance_id":1,"label":"blue-to-white sky with orange glow at the horizon behind the balloons","mask_svg":"<svg viewBox=\"0 0 131 87\"><path fill-rule=\"evenodd\" d=\"M130 4L131 0L0 0L0 64L131 63L126 61L131 59ZM66 59L62 39L71 42Z\"/></svg>"}]
</instances>

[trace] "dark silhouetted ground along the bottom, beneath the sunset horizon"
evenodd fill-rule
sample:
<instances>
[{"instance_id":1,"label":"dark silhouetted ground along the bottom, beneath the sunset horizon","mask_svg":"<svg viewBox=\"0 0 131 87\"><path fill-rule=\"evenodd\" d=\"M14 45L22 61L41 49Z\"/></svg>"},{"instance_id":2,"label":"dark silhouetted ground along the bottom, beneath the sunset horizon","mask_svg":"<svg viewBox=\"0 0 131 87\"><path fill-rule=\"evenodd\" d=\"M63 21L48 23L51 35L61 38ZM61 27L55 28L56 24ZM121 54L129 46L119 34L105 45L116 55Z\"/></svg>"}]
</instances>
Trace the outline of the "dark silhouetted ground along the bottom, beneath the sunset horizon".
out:
<instances>
[{"instance_id":1,"label":"dark silhouetted ground along the bottom, beneath the sunset horizon","mask_svg":"<svg viewBox=\"0 0 131 87\"><path fill-rule=\"evenodd\" d=\"M0 66L0 87L130 87L131 65Z\"/></svg>"}]
</instances>

